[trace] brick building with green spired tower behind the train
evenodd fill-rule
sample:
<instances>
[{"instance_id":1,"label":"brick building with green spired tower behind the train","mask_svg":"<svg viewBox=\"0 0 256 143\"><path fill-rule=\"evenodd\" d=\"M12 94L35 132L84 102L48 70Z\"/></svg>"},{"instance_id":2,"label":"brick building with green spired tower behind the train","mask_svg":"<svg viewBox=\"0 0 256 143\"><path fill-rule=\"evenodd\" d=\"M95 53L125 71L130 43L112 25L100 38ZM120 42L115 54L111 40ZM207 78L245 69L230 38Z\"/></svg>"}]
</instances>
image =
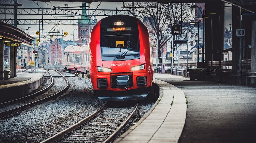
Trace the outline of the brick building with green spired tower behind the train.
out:
<instances>
[{"instance_id":1,"label":"brick building with green spired tower behind the train","mask_svg":"<svg viewBox=\"0 0 256 143\"><path fill-rule=\"evenodd\" d=\"M86 3L82 4L81 17L78 18L78 44L88 44L90 32L96 24L96 19L91 20L91 16L87 14ZM90 20L89 20L90 19Z\"/></svg>"}]
</instances>

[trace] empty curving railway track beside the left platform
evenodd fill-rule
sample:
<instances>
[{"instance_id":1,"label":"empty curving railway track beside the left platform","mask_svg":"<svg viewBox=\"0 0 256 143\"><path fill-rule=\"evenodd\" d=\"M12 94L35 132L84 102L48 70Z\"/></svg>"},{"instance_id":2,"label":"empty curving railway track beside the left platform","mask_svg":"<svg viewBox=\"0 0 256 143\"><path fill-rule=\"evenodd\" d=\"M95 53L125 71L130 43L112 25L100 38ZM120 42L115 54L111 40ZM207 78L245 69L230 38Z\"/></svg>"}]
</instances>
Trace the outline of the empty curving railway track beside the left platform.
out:
<instances>
[{"instance_id":1,"label":"empty curving railway track beside the left platform","mask_svg":"<svg viewBox=\"0 0 256 143\"><path fill-rule=\"evenodd\" d=\"M44 88L43 90L40 90L34 94L19 98L19 99L15 99L9 102L5 102L5 103L1 103L0 107L4 109L4 111L0 112L0 117L5 117L7 115L10 114L14 114L20 111L23 111L25 109L31 108L35 105L38 105L40 103L46 102L50 99L53 99L59 95L61 95L63 92L67 91L69 88L69 82L67 80L67 78L62 75L60 72L58 72L57 70L54 70L55 72L57 72L58 74L60 74L61 76L63 76L65 82L66 82L66 86L65 88L61 89L58 92L53 92L53 91L49 91L50 88L52 88L54 86L54 79L53 76L51 75L51 73L49 72L49 70L47 70L47 72L49 73L50 77L51 77L51 83L48 87Z\"/></svg>"}]
</instances>

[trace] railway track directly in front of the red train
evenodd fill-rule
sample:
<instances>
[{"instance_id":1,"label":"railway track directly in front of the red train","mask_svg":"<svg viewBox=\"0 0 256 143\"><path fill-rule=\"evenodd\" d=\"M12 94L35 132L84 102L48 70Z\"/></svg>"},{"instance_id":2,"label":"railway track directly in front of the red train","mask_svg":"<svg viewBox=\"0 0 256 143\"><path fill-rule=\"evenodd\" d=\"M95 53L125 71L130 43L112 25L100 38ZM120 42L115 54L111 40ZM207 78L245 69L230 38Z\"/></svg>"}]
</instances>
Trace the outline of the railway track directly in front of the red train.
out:
<instances>
[{"instance_id":1,"label":"railway track directly in front of the red train","mask_svg":"<svg viewBox=\"0 0 256 143\"><path fill-rule=\"evenodd\" d=\"M105 104L88 117L41 143L112 142L136 118L139 109L139 103L133 108L124 109Z\"/></svg>"}]
</instances>

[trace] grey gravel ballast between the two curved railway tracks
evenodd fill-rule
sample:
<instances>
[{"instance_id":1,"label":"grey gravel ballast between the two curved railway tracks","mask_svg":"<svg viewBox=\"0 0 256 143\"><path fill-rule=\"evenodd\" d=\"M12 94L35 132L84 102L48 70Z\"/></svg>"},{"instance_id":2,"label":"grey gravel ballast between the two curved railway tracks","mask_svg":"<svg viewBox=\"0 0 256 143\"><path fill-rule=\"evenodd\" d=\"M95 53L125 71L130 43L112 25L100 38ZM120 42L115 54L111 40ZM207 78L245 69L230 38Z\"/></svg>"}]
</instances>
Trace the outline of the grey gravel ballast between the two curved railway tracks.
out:
<instances>
[{"instance_id":1,"label":"grey gravel ballast between the two curved railway tracks","mask_svg":"<svg viewBox=\"0 0 256 143\"><path fill-rule=\"evenodd\" d=\"M74 77L67 79L70 88L62 96L17 115L0 119L0 142L41 142L72 126L105 104L93 94L90 80L85 82L84 78ZM65 81L56 83L66 84ZM151 100L143 101L141 109L147 113L153 104L154 101Z\"/></svg>"}]
</instances>

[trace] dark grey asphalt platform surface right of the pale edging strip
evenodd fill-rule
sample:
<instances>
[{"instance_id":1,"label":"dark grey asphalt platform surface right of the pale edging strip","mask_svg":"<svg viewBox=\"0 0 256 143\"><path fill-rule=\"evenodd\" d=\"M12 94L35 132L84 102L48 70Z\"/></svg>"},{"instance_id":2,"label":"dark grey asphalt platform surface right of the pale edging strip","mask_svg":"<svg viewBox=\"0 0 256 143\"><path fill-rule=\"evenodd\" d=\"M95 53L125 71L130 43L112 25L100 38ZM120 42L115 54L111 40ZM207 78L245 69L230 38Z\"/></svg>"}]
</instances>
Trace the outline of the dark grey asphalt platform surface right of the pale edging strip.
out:
<instances>
[{"instance_id":1,"label":"dark grey asphalt platform surface right of the pale edging strip","mask_svg":"<svg viewBox=\"0 0 256 143\"><path fill-rule=\"evenodd\" d=\"M256 142L256 88L165 75L154 78L181 89L188 101L180 143Z\"/></svg>"}]
</instances>

